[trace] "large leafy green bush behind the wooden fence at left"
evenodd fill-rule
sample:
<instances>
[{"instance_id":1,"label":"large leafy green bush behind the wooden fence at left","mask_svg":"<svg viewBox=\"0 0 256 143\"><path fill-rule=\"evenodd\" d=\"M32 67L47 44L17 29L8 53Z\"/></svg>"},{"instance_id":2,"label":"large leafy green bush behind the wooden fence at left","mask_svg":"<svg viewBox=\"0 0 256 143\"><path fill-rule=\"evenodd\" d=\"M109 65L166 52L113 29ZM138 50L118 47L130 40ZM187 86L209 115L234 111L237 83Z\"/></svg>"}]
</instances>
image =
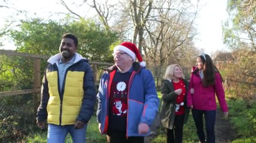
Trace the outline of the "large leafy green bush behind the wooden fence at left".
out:
<instances>
[{"instance_id":1,"label":"large leafy green bush behind the wooden fence at left","mask_svg":"<svg viewBox=\"0 0 256 143\"><path fill-rule=\"evenodd\" d=\"M78 52L84 57L90 60L113 62L110 47L117 45L116 34L105 31L92 20L62 24L52 20L45 22L42 19L21 21L20 29L10 31L10 36L18 52L54 55L59 53L61 36L67 32L77 36ZM0 55L0 58L0 83L2 83L0 91L30 89L33 84L33 58L5 55ZM46 60L41 60L41 75L46 65Z\"/></svg>"}]
</instances>

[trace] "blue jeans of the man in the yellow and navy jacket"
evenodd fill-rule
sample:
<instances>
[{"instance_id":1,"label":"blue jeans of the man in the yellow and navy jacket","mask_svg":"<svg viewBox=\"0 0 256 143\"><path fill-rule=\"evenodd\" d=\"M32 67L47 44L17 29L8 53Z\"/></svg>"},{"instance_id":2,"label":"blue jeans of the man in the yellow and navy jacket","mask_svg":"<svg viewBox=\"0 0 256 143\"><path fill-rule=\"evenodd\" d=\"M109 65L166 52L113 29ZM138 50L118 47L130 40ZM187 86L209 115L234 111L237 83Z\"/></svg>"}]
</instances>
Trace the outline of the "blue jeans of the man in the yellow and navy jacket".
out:
<instances>
[{"instance_id":1,"label":"blue jeans of the man in the yellow and navy jacket","mask_svg":"<svg viewBox=\"0 0 256 143\"><path fill-rule=\"evenodd\" d=\"M64 143L68 133L72 137L73 143L85 143L87 124L81 129L74 129L74 125L54 125L48 124L48 143Z\"/></svg>"}]
</instances>

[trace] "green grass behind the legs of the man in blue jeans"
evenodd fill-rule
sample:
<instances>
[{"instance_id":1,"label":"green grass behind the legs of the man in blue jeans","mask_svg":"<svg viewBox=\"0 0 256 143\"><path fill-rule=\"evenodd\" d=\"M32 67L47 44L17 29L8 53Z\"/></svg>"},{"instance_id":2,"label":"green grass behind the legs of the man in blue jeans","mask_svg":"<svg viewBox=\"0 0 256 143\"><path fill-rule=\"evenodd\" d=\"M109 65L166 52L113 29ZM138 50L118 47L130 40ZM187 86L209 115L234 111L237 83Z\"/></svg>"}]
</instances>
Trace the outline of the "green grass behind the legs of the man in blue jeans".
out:
<instances>
[{"instance_id":1,"label":"green grass behind the legs of the man in blue jeans","mask_svg":"<svg viewBox=\"0 0 256 143\"><path fill-rule=\"evenodd\" d=\"M46 143L47 142L47 131L42 133L36 133L30 135L27 138L27 143ZM86 143L106 143L106 136L101 135L98 130L98 123L96 116L92 116L88 123L86 130ZM72 143L70 134L66 137L65 143Z\"/></svg>"}]
</instances>

